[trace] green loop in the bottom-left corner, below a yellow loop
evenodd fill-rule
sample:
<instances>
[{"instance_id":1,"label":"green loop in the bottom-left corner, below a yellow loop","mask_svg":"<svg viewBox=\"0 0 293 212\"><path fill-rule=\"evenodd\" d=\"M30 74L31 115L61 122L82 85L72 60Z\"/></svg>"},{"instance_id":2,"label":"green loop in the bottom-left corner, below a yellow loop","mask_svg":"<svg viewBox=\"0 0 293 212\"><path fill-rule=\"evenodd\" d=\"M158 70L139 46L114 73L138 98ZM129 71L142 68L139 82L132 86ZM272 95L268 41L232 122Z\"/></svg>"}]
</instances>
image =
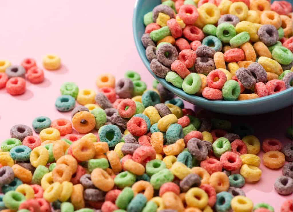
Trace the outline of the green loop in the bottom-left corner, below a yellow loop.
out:
<instances>
[{"instance_id":1,"label":"green loop in the bottom-left corner, below a yellow loop","mask_svg":"<svg viewBox=\"0 0 293 212\"><path fill-rule=\"evenodd\" d=\"M9 191L3 197L3 202L5 207L15 210L18 210L19 205L25 201L25 196L20 192Z\"/></svg>"}]
</instances>

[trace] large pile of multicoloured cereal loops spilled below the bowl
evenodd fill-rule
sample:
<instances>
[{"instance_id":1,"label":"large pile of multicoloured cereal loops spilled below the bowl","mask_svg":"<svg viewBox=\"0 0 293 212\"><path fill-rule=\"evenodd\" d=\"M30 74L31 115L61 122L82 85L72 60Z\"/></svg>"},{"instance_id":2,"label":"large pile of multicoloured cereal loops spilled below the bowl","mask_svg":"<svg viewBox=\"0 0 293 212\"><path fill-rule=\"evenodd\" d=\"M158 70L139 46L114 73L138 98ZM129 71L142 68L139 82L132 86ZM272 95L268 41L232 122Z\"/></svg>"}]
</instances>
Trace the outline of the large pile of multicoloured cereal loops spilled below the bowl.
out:
<instances>
[{"instance_id":1,"label":"large pile of multicoloured cereal loops spilled below the bowl","mask_svg":"<svg viewBox=\"0 0 293 212\"><path fill-rule=\"evenodd\" d=\"M75 98L81 104L71 121L37 117L32 127L39 135L26 125L11 128L0 152L2 212L50 212L50 204L61 212L274 211L265 203L253 206L241 189L262 173L260 141L251 127L195 115L157 81L147 90L132 71L116 83L101 75L97 86L95 94L62 85L57 109L74 108ZM71 134L73 127L87 134ZM292 128L288 134L292 138ZM266 139L263 150L269 168L292 161L292 144L282 148ZM275 188L287 195L292 163L283 174ZM285 201L281 211L290 204Z\"/></svg>"}]
</instances>

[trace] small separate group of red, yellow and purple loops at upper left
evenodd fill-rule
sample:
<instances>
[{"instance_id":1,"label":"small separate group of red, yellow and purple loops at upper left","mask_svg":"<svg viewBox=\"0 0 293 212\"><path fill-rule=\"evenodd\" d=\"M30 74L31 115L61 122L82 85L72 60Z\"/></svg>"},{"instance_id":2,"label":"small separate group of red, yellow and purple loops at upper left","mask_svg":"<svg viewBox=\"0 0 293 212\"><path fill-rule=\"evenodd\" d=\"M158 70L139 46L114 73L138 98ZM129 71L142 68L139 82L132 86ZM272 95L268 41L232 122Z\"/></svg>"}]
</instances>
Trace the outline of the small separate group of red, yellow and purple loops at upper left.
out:
<instances>
[{"instance_id":1,"label":"small separate group of red, yellow and purple loops at upper left","mask_svg":"<svg viewBox=\"0 0 293 212\"><path fill-rule=\"evenodd\" d=\"M60 67L61 60L56 55L46 55L43 66L47 70L56 70ZM0 89L5 88L11 95L25 93L25 78L34 84L44 81L44 71L39 68L33 58L26 58L20 66L11 66L8 60L0 60Z\"/></svg>"}]
</instances>

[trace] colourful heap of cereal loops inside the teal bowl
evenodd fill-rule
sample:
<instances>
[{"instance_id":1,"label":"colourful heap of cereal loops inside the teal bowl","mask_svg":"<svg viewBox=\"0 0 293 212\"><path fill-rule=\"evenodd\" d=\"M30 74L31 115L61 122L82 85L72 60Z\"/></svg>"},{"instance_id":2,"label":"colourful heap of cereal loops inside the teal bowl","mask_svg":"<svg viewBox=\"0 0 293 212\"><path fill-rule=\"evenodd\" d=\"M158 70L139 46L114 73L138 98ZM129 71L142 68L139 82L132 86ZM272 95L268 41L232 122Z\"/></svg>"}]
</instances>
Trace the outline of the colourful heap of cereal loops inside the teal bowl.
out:
<instances>
[{"instance_id":1,"label":"colourful heap of cereal loops inside the teal bowl","mask_svg":"<svg viewBox=\"0 0 293 212\"><path fill-rule=\"evenodd\" d=\"M168 0L144 24L151 70L187 94L231 101L292 87L289 2Z\"/></svg>"}]
</instances>

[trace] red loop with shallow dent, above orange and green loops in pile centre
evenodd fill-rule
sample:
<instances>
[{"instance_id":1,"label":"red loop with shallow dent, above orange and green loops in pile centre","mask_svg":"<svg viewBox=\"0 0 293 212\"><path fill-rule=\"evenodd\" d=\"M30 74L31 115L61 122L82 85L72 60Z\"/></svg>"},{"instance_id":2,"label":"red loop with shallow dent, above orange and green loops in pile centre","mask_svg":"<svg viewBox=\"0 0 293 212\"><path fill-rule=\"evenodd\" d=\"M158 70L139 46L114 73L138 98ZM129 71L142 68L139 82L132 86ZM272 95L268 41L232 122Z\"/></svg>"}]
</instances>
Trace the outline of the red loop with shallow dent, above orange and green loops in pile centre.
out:
<instances>
[{"instance_id":1,"label":"red loop with shallow dent, above orange and green loops in pile centre","mask_svg":"<svg viewBox=\"0 0 293 212\"><path fill-rule=\"evenodd\" d=\"M132 160L142 165L154 159L156 159L156 150L152 146L140 146L132 155Z\"/></svg>"}]
</instances>

